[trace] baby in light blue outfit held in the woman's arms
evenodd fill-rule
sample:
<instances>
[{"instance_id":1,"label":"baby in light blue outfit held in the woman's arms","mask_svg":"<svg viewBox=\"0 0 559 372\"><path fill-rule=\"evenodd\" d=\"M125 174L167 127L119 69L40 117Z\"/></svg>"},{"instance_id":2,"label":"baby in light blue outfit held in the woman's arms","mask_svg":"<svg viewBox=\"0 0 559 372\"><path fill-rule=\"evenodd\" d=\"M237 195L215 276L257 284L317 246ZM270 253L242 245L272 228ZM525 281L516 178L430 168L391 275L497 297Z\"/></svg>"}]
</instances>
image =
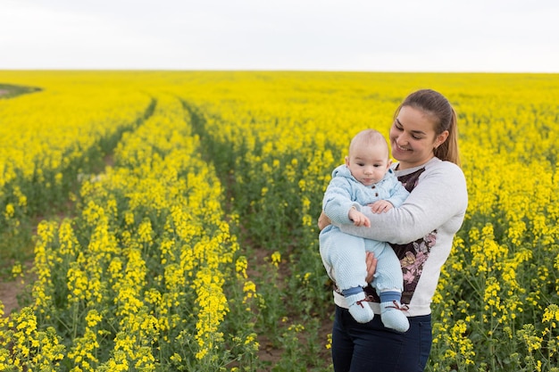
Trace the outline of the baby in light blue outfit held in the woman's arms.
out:
<instances>
[{"instance_id":1,"label":"baby in light blue outfit held in the woman's arms","mask_svg":"<svg viewBox=\"0 0 559 372\"><path fill-rule=\"evenodd\" d=\"M337 224L370 227L362 208L388 211L404 203L408 192L397 180L388 158L388 144L379 131L366 129L349 145L346 164L332 172L322 200L322 210ZM365 252L374 252L377 268L371 283L380 296L380 319L385 327L405 332L409 321L401 310L402 269L396 253L386 242L363 239L341 232L333 224L320 234L321 258L330 278L346 298L349 313L360 323L374 314L366 302L363 287L367 268Z\"/></svg>"}]
</instances>

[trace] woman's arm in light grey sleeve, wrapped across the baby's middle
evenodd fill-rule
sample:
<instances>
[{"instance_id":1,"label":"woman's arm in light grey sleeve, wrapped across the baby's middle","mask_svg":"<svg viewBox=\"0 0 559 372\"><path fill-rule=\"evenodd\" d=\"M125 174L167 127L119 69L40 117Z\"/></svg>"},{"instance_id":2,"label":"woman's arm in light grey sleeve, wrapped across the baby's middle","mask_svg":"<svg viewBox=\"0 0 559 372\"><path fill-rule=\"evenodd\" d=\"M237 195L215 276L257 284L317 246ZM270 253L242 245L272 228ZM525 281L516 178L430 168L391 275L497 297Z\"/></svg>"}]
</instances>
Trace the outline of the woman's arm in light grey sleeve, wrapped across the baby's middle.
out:
<instances>
[{"instance_id":1,"label":"woman's arm in light grey sleeve, wrapped across the baby's middle","mask_svg":"<svg viewBox=\"0 0 559 372\"><path fill-rule=\"evenodd\" d=\"M368 208L363 213L371 227L339 226L350 235L395 244L406 244L426 236L455 216L465 213L468 193L462 169L440 161L425 169L419 183L399 208L375 214Z\"/></svg>"}]
</instances>

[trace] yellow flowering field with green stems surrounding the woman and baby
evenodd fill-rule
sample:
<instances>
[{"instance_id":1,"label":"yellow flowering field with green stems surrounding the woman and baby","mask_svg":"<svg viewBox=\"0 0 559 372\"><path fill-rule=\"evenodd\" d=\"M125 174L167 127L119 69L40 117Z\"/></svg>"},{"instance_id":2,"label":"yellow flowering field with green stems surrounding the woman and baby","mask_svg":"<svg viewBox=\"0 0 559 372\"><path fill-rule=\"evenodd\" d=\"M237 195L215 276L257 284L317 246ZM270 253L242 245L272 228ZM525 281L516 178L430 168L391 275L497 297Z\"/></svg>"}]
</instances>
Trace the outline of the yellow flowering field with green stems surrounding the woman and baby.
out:
<instances>
[{"instance_id":1,"label":"yellow flowering field with green stems surrounding the woman and baby","mask_svg":"<svg viewBox=\"0 0 559 372\"><path fill-rule=\"evenodd\" d=\"M559 75L0 71L0 371L328 371L316 219L363 128L454 104L430 371L559 371ZM30 273L22 267L32 261ZM15 277L15 278L14 278Z\"/></svg>"}]
</instances>

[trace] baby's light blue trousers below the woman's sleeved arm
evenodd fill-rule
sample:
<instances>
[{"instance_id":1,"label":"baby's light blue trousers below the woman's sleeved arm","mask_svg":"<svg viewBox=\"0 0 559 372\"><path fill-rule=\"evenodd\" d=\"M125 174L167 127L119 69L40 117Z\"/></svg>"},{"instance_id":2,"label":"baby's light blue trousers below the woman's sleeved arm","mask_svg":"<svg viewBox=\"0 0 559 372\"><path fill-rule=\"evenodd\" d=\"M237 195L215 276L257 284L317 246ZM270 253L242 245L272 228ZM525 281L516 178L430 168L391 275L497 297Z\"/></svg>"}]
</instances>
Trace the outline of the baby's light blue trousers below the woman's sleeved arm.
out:
<instances>
[{"instance_id":1,"label":"baby's light blue trousers below the woman's sleeved arm","mask_svg":"<svg viewBox=\"0 0 559 372\"><path fill-rule=\"evenodd\" d=\"M333 225L321 231L319 241L322 263L339 289L367 285L365 252L373 252L378 263L371 286L377 289L377 293L403 291L400 260L388 243L351 236Z\"/></svg>"}]
</instances>

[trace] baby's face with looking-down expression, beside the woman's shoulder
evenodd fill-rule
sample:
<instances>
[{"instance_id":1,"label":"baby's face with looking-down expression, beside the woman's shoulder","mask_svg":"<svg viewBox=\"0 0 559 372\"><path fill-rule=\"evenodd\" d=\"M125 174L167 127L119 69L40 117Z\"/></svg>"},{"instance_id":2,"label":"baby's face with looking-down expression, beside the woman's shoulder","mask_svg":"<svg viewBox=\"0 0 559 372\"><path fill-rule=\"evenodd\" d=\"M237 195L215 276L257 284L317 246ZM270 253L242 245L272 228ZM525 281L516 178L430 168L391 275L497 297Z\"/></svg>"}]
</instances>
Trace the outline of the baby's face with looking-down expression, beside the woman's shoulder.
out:
<instances>
[{"instance_id":1,"label":"baby's face with looking-down expression, beside the woman's shoulder","mask_svg":"<svg viewBox=\"0 0 559 372\"><path fill-rule=\"evenodd\" d=\"M388 149L380 145L358 145L346 156L351 175L364 186L379 182L388 171Z\"/></svg>"}]
</instances>

